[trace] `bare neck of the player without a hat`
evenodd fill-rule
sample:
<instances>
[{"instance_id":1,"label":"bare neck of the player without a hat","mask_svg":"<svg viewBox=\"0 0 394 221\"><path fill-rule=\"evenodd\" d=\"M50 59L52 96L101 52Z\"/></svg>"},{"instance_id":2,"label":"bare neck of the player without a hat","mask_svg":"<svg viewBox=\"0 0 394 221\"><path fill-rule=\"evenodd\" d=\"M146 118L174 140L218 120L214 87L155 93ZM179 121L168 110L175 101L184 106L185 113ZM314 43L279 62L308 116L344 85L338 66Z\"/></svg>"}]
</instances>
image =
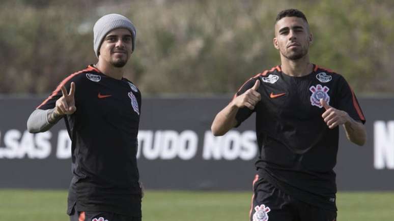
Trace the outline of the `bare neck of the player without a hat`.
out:
<instances>
[{"instance_id":1,"label":"bare neck of the player without a hat","mask_svg":"<svg viewBox=\"0 0 394 221\"><path fill-rule=\"evenodd\" d=\"M302 77L308 75L313 71L313 65L309 62L309 57L306 55L298 60L290 60L281 56L283 73L293 76Z\"/></svg>"}]
</instances>

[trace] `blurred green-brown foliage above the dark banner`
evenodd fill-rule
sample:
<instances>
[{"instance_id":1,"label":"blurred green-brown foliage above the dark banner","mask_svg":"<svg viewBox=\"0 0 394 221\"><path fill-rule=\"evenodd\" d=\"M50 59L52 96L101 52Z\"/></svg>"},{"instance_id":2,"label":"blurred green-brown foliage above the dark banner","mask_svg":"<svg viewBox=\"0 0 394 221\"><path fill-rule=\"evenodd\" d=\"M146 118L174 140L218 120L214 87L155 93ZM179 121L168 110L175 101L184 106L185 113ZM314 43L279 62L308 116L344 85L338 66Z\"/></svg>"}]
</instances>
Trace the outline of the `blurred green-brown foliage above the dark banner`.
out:
<instances>
[{"instance_id":1,"label":"blurred green-brown foliage above the dark banner","mask_svg":"<svg viewBox=\"0 0 394 221\"><path fill-rule=\"evenodd\" d=\"M357 92L394 92L390 0L2 0L0 93L48 93L94 64L93 25L108 13L137 28L126 77L145 94L232 93L279 64L273 25L288 8L308 18L312 62Z\"/></svg>"}]
</instances>

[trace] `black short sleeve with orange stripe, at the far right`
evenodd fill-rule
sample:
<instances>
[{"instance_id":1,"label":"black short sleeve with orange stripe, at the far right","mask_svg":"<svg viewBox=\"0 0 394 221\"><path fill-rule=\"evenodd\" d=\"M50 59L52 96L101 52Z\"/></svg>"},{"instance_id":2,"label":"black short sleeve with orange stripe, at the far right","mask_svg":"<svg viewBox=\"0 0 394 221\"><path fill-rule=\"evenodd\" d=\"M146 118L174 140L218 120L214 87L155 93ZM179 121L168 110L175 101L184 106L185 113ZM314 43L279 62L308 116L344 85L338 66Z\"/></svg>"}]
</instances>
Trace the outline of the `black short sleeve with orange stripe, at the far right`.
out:
<instances>
[{"instance_id":1,"label":"black short sleeve with orange stripe, at the far right","mask_svg":"<svg viewBox=\"0 0 394 221\"><path fill-rule=\"evenodd\" d=\"M361 121L365 123L365 117L358 103L354 91L348 84L348 82L341 76L339 82L337 109L346 111L350 117L356 121Z\"/></svg>"}]
</instances>

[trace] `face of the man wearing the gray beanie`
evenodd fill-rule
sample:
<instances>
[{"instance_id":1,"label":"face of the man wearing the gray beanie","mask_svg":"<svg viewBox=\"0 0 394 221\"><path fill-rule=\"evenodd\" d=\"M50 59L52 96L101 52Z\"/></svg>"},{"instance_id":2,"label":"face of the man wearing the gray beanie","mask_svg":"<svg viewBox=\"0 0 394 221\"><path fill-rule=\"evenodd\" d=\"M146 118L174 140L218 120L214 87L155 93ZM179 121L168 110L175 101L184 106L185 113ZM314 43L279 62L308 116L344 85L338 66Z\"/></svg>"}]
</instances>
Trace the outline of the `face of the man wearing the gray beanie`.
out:
<instances>
[{"instance_id":1,"label":"face of the man wearing the gray beanie","mask_svg":"<svg viewBox=\"0 0 394 221\"><path fill-rule=\"evenodd\" d=\"M132 52L132 36L128 29L111 30L100 47L99 59L114 67L122 68L126 65Z\"/></svg>"}]
</instances>

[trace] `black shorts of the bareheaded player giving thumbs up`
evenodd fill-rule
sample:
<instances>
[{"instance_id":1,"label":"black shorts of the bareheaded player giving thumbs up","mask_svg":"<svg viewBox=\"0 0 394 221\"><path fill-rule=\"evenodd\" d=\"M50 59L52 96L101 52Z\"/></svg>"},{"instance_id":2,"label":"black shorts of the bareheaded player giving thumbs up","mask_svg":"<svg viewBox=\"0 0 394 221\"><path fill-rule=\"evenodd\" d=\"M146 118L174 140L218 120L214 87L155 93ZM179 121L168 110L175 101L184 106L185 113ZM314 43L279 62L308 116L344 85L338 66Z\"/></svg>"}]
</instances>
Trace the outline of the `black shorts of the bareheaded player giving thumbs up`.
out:
<instances>
[{"instance_id":1,"label":"black shorts of the bareheaded player giving thumbs up","mask_svg":"<svg viewBox=\"0 0 394 221\"><path fill-rule=\"evenodd\" d=\"M250 221L335 221L336 211L301 202L256 175Z\"/></svg>"}]
</instances>

